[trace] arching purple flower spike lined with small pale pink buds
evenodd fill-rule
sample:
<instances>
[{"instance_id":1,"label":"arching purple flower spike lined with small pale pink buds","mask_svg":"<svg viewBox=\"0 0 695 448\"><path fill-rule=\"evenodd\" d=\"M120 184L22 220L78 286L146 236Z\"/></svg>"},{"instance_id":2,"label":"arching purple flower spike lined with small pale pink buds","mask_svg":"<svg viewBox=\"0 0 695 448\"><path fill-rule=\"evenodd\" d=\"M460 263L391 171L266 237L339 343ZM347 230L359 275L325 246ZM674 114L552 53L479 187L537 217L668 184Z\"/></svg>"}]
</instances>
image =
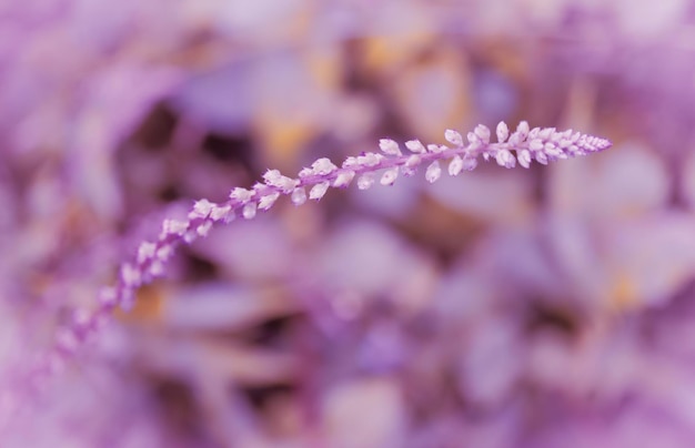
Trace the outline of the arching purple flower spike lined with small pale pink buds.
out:
<instances>
[{"instance_id":1,"label":"arching purple flower spike lined with small pale pink buds","mask_svg":"<svg viewBox=\"0 0 695 448\"><path fill-rule=\"evenodd\" d=\"M379 144L381 152L350 156L340 166L329 159L319 159L301 170L296 177L269 170L263 175L263 182L250 190L233 189L223 203L205 198L197 201L187 220L165 220L155 241L140 244L133 259L120 266L115 284L98 293L94 309L74 312L71 325L58 333L53 347L32 367L29 377L36 384L59 371L115 308L130 309L137 289L164 274L177 245L191 244L208 235L215 224L228 224L235 218L252 220L259 211L271 208L282 195L290 196L294 205L302 205L306 201L321 200L330 187L345 189L353 182L360 190L369 190L375 183L392 185L399 176L412 176L421 166L425 166L427 182L433 183L444 170L452 176L474 170L481 157L507 169L516 164L527 169L534 160L547 164L611 146L605 139L572 130L531 129L525 121L514 132L501 122L495 133L497 141L493 143L491 130L482 124L469 132L465 139L459 132L447 130L444 134L449 142L446 145L425 145L412 140L405 142L404 149L391 139L382 139Z\"/></svg>"}]
</instances>

